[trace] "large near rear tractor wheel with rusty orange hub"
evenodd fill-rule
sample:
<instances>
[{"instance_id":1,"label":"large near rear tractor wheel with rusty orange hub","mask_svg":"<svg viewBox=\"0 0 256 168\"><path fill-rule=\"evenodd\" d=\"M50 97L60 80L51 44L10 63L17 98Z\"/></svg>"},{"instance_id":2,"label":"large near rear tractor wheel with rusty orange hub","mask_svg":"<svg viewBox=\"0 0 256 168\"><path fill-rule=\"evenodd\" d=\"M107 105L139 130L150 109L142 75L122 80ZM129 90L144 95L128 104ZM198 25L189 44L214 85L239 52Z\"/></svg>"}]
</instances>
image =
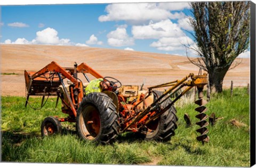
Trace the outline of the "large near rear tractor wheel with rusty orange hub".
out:
<instances>
[{"instance_id":1,"label":"large near rear tractor wheel with rusty orange hub","mask_svg":"<svg viewBox=\"0 0 256 168\"><path fill-rule=\"evenodd\" d=\"M79 105L76 117L78 136L100 144L113 144L118 135L118 114L111 98L90 93Z\"/></svg>"}]
</instances>

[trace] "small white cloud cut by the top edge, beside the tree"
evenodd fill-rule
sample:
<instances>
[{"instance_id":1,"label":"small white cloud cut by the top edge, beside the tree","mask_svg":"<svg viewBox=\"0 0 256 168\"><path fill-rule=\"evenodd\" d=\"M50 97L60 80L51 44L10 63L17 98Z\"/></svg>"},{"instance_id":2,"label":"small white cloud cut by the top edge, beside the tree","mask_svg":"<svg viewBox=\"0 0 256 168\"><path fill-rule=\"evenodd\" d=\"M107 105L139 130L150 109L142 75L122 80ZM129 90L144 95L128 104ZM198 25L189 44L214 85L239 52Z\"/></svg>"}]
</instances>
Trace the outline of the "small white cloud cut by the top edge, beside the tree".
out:
<instances>
[{"instance_id":1,"label":"small white cloud cut by the top edge, beside the tree","mask_svg":"<svg viewBox=\"0 0 256 168\"><path fill-rule=\"evenodd\" d=\"M160 2L158 3L158 7L161 9L169 10L169 11L179 11L183 9L190 9L191 6L189 2Z\"/></svg>"}]
</instances>

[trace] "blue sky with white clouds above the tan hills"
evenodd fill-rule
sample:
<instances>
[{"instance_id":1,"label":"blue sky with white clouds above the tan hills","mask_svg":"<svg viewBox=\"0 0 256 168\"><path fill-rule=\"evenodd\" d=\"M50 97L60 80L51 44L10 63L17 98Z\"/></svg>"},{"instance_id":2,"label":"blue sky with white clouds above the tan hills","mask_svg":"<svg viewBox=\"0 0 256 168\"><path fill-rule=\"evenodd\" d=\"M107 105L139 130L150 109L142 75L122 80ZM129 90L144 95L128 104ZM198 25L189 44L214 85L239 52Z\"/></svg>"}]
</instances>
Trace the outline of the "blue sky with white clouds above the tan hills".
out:
<instances>
[{"instance_id":1,"label":"blue sky with white clouds above the tan hills","mask_svg":"<svg viewBox=\"0 0 256 168\"><path fill-rule=\"evenodd\" d=\"M2 44L73 45L186 55L187 2L2 5ZM193 53L189 52L189 55ZM249 57L250 52L243 53Z\"/></svg>"}]
</instances>

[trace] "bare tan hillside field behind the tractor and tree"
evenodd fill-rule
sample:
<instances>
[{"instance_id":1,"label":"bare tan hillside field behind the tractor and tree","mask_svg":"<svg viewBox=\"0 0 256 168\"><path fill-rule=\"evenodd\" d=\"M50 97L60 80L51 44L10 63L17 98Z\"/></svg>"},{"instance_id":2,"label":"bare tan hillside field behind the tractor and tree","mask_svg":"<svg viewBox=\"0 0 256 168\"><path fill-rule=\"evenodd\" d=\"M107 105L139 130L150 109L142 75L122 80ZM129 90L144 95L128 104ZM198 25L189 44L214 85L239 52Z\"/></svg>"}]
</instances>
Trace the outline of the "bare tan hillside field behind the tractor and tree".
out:
<instances>
[{"instance_id":1,"label":"bare tan hillside field behind the tractor and tree","mask_svg":"<svg viewBox=\"0 0 256 168\"><path fill-rule=\"evenodd\" d=\"M24 70L38 71L52 61L61 66L85 62L103 76L117 78L123 85L141 85L145 81L145 87L198 73L197 66L186 56L75 46L1 44L0 49L2 96L25 96ZM223 87L230 87L231 80L234 86L250 83L249 58L227 73Z\"/></svg>"}]
</instances>

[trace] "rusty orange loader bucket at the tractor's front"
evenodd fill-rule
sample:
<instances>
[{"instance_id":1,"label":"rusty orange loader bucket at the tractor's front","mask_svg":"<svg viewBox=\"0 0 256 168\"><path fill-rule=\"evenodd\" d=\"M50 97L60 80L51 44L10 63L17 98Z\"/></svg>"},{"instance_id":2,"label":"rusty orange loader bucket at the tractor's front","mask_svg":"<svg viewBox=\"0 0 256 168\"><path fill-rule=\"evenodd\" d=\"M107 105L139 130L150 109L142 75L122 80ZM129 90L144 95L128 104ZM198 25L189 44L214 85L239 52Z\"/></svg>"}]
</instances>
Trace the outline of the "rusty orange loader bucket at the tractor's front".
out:
<instances>
[{"instance_id":1,"label":"rusty orange loader bucket at the tractor's front","mask_svg":"<svg viewBox=\"0 0 256 168\"><path fill-rule=\"evenodd\" d=\"M33 77L36 72L27 72L25 70L25 82L27 96L56 96L57 90L61 85L58 75L54 73L44 73L39 77Z\"/></svg>"}]
</instances>

